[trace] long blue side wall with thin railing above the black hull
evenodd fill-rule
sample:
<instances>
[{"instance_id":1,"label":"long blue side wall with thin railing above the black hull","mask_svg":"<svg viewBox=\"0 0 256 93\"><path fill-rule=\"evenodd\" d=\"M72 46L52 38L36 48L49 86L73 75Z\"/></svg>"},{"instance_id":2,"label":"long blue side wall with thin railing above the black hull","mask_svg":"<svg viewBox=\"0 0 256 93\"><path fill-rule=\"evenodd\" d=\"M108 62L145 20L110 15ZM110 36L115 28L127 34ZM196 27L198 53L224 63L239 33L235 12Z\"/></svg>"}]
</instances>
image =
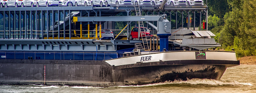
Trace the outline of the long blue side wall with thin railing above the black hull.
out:
<instances>
[{"instance_id":1,"label":"long blue side wall with thin railing above the black hull","mask_svg":"<svg viewBox=\"0 0 256 93\"><path fill-rule=\"evenodd\" d=\"M107 60L117 58L117 52L40 52L0 51L0 59L43 60Z\"/></svg>"}]
</instances>

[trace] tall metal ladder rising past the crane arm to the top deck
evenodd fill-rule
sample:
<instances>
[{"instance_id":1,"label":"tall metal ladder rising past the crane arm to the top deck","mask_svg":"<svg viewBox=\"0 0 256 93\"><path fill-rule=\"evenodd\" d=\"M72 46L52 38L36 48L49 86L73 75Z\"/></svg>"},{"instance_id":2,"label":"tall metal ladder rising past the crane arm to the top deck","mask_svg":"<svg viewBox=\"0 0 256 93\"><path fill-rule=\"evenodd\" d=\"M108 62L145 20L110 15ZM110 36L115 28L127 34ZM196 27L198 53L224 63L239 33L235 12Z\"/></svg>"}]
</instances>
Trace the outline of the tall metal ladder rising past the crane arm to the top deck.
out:
<instances>
[{"instance_id":1,"label":"tall metal ladder rising past the crane arm to the top deck","mask_svg":"<svg viewBox=\"0 0 256 93\"><path fill-rule=\"evenodd\" d=\"M134 8L135 8L136 16L141 16L140 4L138 4L138 3L134 4ZM143 28L143 31L141 31L140 28ZM145 32L145 29L144 29L143 21L138 21L138 31L140 31L140 36L141 36L141 39L142 39L144 50L145 51L149 50L149 46L148 46L149 39L147 39L147 37L146 37L146 32Z\"/></svg>"}]
</instances>

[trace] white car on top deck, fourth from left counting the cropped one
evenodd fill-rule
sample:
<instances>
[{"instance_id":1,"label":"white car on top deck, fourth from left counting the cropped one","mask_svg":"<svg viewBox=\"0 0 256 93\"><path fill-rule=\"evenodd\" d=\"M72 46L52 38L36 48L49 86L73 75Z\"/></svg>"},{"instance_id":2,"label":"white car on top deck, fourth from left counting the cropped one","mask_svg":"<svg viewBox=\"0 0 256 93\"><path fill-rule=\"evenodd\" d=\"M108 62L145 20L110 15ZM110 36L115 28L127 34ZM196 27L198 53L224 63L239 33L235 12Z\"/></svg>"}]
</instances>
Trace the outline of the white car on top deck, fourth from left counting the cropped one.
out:
<instances>
[{"instance_id":1,"label":"white car on top deck, fourth from left counting the cropped one","mask_svg":"<svg viewBox=\"0 0 256 93\"><path fill-rule=\"evenodd\" d=\"M36 6L58 6L59 5L59 0L36 0Z\"/></svg>"}]
</instances>

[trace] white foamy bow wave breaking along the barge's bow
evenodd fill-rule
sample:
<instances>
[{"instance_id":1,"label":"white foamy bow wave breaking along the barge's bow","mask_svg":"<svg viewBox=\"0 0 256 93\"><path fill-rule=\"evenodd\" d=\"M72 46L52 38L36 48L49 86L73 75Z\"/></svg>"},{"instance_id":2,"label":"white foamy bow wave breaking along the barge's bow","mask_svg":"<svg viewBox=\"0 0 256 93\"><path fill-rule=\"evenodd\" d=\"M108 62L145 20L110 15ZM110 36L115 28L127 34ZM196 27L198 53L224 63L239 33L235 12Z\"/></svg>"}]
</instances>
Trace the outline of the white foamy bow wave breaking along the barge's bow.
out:
<instances>
[{"instance_id":1,"label":"white foamy bow wave breaking along the barge's bow","mask_svg":"<svg viewBox=\"0 0 256 93\"><path fill-rule=\"evenodd\" d=\"M187 81L182 80L175 80L175 81L166 81L164 83L155 83L155 84L147 84L147 85L130 85L130 86L112 86L112 87L143 87L143 86L156 86L156 85L165 85L165 84L207 84L207 85L214 85L214 86L222 86L222 85L250 85L250 83L240 83L237 81L220 81L220 80L213 80L213 79L190 79Z\"/></svg>"}]
</instances>

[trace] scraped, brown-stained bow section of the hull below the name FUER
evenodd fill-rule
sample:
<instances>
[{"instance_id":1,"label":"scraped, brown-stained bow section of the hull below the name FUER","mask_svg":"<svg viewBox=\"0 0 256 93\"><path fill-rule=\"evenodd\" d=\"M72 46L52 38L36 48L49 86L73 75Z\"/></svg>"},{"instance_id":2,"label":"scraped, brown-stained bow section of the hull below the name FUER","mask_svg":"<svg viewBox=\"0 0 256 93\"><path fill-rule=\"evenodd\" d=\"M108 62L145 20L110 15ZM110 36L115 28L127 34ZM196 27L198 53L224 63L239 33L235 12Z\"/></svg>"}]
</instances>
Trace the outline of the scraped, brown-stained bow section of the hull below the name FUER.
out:
<instances>
[{"instance_id":1,"label":"scraped, brown-stained bow section of the hull below the name FUER","mask_svg":"<svg viewBox=\"0 0 256 93\"><path fill-rule=\"evenodd\" d=\"M115 82L124 85L143 85L174 80L205 78L219 80L226 70L225 65L166 65L115 69Z\"/></svg>"}]
</instances>

